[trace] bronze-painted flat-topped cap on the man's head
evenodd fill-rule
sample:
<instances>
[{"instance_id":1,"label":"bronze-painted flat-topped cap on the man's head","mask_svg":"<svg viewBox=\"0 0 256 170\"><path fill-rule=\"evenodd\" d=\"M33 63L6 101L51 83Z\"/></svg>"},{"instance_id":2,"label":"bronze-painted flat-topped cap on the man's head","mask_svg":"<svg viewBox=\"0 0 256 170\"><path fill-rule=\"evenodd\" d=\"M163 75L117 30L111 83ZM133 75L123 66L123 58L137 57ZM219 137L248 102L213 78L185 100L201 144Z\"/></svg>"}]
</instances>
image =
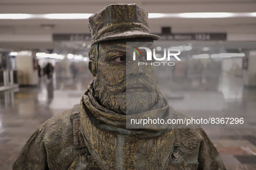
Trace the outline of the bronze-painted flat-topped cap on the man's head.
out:
<instances>
[{"instance_id":1,"label":"bronze-painted flat-topped cap on the man's head","mask_svg":"<svg viewBox=\"0 0 256 170\"><path fill-rule=\"evenodd\" d=\"M125 38L151 38L159 36L149 31L148 13L136 4L110 4L89 17L92 44Z\"/></svg>"}]
</instances>

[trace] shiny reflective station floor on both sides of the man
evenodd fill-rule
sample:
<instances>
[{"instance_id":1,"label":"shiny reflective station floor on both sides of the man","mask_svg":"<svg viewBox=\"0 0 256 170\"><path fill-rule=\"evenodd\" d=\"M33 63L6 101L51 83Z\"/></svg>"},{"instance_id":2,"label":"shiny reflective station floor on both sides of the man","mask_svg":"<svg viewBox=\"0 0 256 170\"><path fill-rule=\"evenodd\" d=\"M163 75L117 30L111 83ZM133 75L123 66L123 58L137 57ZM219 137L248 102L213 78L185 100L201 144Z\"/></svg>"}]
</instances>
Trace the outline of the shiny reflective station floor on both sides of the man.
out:
<instances>
[{"instance_id":1,"label":"shiny reflective station floor on both sides of the man","mask_svg":"<svg viewBox=\"0 0 256 170\"><path fill-rule=\"evenodd\" d=\"M40 79L38 86L0 91L0 169L11 170L23 145L45 120L78 104L91 76L77 79ZM192 86L194 82L191 82ZM241 77L223 74L217 90L204 85L188 89L184 82L164 82L160 87L169 103L186 115L204 113L244 117L252 129L204 129L217 147L227 170L256 170L256 88L244 88ZM196 83L194 83L196 84ZM199 83L200 84L200 83ZM168 86L166 86L168 85Z\"/></svg>"}]
</instances>

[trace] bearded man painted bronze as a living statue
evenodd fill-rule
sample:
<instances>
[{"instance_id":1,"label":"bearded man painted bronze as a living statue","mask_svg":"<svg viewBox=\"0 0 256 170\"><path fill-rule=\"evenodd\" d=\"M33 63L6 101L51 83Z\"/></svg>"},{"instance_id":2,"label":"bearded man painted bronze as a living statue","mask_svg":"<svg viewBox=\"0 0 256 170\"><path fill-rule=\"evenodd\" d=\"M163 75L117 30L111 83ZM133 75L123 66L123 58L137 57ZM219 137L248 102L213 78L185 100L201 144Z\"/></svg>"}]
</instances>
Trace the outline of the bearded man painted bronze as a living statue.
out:
<instances>
[{"instance_id":1,"label":"bearded man painted bronze as a living statue","mask_svg":"<svg viewBox=\"0 0 256 170\"><path fill-rule=\"evenodd\" d=\"M13 170L224 170L200 126L126 129L128 112L185 118L159 90L154 66L126 72L126 42L159 39L149 31L148 13L136 4L109 5L89 18L89 28L94 80L80 105L38 127ZM135 98L127 105L126 92Z\"/></svg>"}]
</instances>

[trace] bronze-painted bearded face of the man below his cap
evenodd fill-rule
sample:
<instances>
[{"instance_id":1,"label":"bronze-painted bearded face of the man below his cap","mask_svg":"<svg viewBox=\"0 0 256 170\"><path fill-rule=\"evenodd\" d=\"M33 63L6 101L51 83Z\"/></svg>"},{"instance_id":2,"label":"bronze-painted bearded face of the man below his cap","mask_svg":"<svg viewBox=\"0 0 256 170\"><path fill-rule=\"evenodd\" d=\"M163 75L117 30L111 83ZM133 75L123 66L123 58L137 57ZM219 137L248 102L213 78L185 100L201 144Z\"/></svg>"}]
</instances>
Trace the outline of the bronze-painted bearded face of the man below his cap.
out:
<instances>
[{"instance_id":1,"label":"bronze-painted bearded face of the man below his cap","mask_svg":"<svg viewBox=\"0 0 256 170\"><path fill-rule=\"evenodd\" d=\"M150 110L157 101L155 66L138 66L146 61L143 54L135 61L126 56L126 41L151 44L148 39L104 41L99 44L97 76L94 77L95 96L109 110L120 114L136 114Z\"/></svg>"}]
</instances>

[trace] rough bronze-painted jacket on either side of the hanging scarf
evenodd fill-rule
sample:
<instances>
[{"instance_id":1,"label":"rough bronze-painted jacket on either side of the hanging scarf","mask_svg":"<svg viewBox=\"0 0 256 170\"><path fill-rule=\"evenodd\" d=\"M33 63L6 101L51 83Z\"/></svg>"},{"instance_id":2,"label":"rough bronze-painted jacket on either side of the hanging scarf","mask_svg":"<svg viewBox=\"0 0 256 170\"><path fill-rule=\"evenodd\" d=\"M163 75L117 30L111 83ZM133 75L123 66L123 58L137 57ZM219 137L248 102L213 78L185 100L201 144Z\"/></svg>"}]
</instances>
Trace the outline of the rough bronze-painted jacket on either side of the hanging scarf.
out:
<instances>
[{"instance_id":1,"label":"rough bronze-painted jacket on either side of the hanging scarf","mask_svg":"<svg viewBox=\"0 0 256 170\"><path fill-rule=\"evenodd\" d=\"M39 126L23 147L13 170L101 170L79 130L79 112L79 106L76 106ZM178 113L178 117L184 115ZM168 163L163 169L225 169L219 153L203 129L175 129L174 132L175 149L170 151ZM81 164L84 161L81 156L85 154L87 162Z\"/></svg>"}]
</instances>

